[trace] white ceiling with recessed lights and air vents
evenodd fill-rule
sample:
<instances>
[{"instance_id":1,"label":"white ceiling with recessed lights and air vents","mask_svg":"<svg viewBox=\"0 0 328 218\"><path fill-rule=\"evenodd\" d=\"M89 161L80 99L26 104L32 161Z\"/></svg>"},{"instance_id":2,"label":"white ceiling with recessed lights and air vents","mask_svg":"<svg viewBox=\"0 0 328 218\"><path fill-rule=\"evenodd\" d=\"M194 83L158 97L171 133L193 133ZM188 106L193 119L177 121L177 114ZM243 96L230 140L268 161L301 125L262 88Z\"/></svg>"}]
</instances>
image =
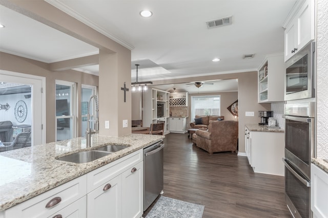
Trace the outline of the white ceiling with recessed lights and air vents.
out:
<instances>
[{"instance_id":1,"label":"white ceiling with recessed lights and air vents","mask_svg":"<svg viewBox=\"0 0 328 218\"><path fill-rule=\"evenodd\" d=\"M47 0L132 50L138 81L256 70L268 54L283 52L282 24L296 0ZM149 9L153 16L139 15ZM0 51L44 62L98 53L98 49L0 6ZM206 21L232 16L232 25ZM242 59L255 54L252 59ZM221 61L212 62L213 58ZM96 74L98 66L79 69Z\"/></svg>"}]
</instances>

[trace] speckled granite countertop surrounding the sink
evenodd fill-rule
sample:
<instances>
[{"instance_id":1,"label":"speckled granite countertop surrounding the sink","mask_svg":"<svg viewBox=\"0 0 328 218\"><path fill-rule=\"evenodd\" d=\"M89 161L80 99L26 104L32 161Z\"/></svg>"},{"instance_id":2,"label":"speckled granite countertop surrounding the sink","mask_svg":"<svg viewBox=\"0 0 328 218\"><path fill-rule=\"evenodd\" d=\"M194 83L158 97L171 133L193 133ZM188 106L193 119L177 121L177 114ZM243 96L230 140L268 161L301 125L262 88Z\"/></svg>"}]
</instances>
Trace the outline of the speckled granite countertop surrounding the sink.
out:
<instances>
[{"instance_id":1,"label":"speckled granite countertop surrounding the sink","mask_svg":"<svg viewBox=\"0 0 328 218\"><path fill-rule=\"evenodd\" d=\"M69 182L98 167L162 140L164 136L130 134L122 137L93 135L92 147L86 138L52 142L0 153L0 211ZM88 163L56 160L81 150L93 150L107 144L127 148Z\"/></svg>"}]
</instances>

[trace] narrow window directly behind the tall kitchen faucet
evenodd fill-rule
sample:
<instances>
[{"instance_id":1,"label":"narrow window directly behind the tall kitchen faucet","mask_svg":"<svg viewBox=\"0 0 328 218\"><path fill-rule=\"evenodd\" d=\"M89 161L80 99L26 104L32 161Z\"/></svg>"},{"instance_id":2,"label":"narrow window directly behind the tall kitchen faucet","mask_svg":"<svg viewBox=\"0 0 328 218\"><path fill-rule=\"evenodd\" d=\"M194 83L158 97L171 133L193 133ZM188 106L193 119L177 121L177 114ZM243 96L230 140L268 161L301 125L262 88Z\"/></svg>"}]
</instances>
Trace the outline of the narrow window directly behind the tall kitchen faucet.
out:
<instances>
[{"instance_id":1,"label":"narrow window directly behind the tall kitchen faucet","mask_svg":"<svg viewBox=\"0 0 328 218\"><path fill-rule=\"evenodd\" d=\"M97 88L93 85L84 85L82 84L81 89L81 136L86 135L87 129L87 114L88 114L88 103L90 96L97 95ZM95 115L95 105L94 101L91 101L90 105L90 119L93 120ZM93 125L90 125L90 128L93 129Z\"/></svg>"}]
</instances>

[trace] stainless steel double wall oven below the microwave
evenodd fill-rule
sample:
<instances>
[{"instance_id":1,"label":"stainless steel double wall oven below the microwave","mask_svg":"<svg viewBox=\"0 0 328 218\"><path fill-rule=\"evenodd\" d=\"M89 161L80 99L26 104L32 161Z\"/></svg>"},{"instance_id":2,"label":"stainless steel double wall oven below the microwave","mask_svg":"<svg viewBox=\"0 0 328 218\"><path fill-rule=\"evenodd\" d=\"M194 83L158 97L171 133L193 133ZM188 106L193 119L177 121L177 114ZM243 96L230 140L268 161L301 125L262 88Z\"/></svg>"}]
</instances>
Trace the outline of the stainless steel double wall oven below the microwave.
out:
<instances>
[{"instance_id":1,"label":"stainless steel double wall oven below the microwave","mask_svg":"<svg viewBox=\"0 0 328 218\"><path fill-rule=\"evenodd\" d=\"M315 157L315 102L285 104L285 199L294 217L312 217L311 158Z\"/></svg>"}]
</instances>

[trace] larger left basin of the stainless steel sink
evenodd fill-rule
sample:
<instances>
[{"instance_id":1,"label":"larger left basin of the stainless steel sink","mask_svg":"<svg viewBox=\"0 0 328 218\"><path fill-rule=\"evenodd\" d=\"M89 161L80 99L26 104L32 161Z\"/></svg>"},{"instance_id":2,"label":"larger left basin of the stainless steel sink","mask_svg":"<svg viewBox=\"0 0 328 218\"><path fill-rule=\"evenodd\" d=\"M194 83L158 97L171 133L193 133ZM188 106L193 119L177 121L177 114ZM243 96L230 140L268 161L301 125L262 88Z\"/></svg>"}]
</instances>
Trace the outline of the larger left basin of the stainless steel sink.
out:
<instances>
[{"instance_id":1,"label":"larger left basin of the stainless steel sink","mask_svg":"<svg viewBox=\"0 0 328 218\"><path fill-rule=\"evenodd\" d=\"M105 152L100 150L88 150L80 151L71 155L67 155L61 158L58 158L60 161L68 161L73 163L88 163L90 161L97 160L99 158L110 155L111 152Z\"/></svg>"}]
</instances>

